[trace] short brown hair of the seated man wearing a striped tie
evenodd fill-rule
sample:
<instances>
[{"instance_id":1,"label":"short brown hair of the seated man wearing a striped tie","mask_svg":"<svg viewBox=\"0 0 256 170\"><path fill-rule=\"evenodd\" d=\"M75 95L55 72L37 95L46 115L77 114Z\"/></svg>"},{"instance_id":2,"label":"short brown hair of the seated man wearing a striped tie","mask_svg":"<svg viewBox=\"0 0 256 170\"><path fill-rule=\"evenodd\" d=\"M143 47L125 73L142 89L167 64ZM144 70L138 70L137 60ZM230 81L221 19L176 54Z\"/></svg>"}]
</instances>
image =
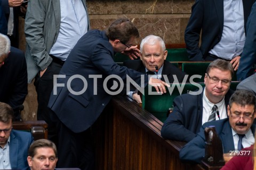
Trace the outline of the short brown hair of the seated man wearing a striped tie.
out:
<instances>
[{"instance_id":1,"label":"short brown hair of the seated man wearing a striped tie","mask_svg":"<svg viewBox=\"0 0 256 170\"><path fill-rule=\"evenodd\" d=\"M230 73L231 73L231 77L233 77L233 75L234 75L234 68L233 68L232 64L229 61L226 61L226 60L217 59L217 60L212 61L209 64L209 66L207 67L206 72L209 73L209 71L212 68L218 68L222 71L229 70Z\"/></svg>"}]
</instances>

